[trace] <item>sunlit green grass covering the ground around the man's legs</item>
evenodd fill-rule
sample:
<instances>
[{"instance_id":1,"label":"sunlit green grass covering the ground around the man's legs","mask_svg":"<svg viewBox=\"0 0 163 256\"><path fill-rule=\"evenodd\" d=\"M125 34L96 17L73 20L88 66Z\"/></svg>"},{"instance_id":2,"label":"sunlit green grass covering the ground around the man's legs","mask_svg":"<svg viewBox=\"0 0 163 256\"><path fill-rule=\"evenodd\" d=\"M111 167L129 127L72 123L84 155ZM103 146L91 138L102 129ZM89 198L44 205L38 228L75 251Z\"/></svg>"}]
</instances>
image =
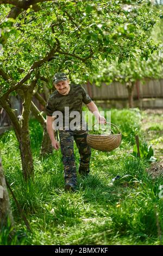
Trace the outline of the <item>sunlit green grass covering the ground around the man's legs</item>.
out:
<instances>
[{"instance_id":1,"label":"sunlit green grass covering the ground around the man's legs","mask_svg":"<svg viewBox=\"0 0 163 256\"><path fill-rule=\"evenodd\" d=\"M163 230L163 200L159 186L163 178L152 179L149 163L131 157L134 137L141 133L141 113L112 111L112 123L127 136L111 153L92 150L91 173L78 176L78 190L64 191L61 153L40 157L41 126L30 121L35 179L24 182L20 154L13 131L1 136L0 147L5 176L26 215L32 233L27 231L10 195L16 233L2 230L1 244L22 245L159 245ZM77 166L79 154L75 146ZM121 178L112 182L116 175ZM161 230L161 234L160 234Z\"/></svg>"}]
</instances>

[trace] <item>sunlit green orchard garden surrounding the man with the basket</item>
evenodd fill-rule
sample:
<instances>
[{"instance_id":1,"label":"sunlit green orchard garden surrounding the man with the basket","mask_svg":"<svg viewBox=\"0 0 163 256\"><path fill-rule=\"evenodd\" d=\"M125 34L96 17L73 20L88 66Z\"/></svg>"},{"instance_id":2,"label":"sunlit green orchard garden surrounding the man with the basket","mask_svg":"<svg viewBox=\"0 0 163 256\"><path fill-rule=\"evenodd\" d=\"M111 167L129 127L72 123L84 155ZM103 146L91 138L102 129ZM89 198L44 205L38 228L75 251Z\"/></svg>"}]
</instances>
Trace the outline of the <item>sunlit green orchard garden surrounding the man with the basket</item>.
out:
<instances>
[{"instance_id":1,"label":"sunlit green orchard garden surrounding the man with the basket","mask_svg":"<svg viewBox=\"0 0 163 256\"><path fill-rule=\"evenodd\" d=\"M162 18L161 1L0 0L0 245L163 244ZM58 72L122 134L112 151L91 149L87 176L74 143L75 192L47 130ZM160 87L143 96L152 80ZM115 83L111 100L127 107L111 103ZM93 86L105 88L100 100Z\"/></svg>"}]
</instances>

